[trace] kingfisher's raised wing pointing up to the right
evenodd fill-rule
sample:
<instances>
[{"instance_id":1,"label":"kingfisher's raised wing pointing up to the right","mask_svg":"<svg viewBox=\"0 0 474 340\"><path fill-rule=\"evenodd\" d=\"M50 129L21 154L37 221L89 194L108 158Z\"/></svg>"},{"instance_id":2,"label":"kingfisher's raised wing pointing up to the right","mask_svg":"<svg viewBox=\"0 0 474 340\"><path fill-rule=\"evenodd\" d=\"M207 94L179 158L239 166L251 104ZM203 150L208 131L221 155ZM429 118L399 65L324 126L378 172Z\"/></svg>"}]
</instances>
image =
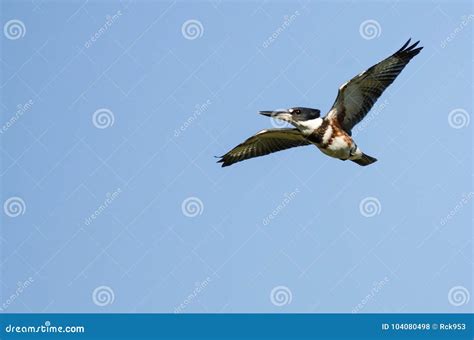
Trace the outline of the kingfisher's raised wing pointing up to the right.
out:
<instances>
[{"instance_id":1,"label":"kingfisher's raised wing pointing up to the right","mask_svg":"<svg viewBox=\"0 0 474 340\"><path fill-rule=\"evenodd\" d=\"M411 39L387 59L342 85L328 118L337 118L341 127L350 134L354 125L365 117L383 91L422 50L423 47L416 48L419 41L408 46L410 41Z\"/></svg>"}]
</instances>

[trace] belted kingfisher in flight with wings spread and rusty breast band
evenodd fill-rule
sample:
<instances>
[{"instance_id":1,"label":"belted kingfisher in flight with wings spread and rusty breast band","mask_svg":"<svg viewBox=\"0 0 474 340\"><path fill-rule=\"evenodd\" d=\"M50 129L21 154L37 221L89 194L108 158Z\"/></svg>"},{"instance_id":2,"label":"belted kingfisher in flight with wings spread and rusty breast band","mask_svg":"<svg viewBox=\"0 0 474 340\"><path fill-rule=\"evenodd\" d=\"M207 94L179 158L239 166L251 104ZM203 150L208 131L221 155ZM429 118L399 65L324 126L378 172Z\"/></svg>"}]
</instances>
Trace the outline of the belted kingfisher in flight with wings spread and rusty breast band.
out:
<instances>
[{"instance_id":1,"label":"belted kingfisher in flight with wings spread and rusty breast band","mask_svg":"<svg viewBox=\"0 0 474 340\"><path fill-rule=\"evenodd\" d=\"M234 163L297 146L315 145L328 156L351 160L365 166L377 161L363 153L351 137L352 128L370 111L383 91L402 72L423 47L419 41L405 45L390 57L344 83L332 108L323 118L320 110L294 107L287 110L260 111L260 114L280 119L295 128L262 130L221 156L218 163ZM409 46L410 45L410 46Z\"/></svg>"}]
</instances>

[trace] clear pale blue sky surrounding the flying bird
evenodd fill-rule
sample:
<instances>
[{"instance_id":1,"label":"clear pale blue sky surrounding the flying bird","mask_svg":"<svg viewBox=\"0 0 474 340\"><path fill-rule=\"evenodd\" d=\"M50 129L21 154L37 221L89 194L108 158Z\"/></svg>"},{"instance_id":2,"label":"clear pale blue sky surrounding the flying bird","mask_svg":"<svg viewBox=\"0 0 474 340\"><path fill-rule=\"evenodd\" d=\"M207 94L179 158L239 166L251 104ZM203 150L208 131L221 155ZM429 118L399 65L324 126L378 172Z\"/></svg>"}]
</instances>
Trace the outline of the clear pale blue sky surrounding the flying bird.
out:
<instances>
[{"instance_id":1,"label":"clear pale blue sky surrounding the flying bird","mask_svg":"<svg viewBox=\"0 0 474 340\"><path fill-rule=\"evenodd\" d=\"M0 13L2 311L472 310L472 2ZM272 127L257 111L325 113L410 37L424 50L355 133L377 163L215 163Z\"/></svg>"}]
</instances>

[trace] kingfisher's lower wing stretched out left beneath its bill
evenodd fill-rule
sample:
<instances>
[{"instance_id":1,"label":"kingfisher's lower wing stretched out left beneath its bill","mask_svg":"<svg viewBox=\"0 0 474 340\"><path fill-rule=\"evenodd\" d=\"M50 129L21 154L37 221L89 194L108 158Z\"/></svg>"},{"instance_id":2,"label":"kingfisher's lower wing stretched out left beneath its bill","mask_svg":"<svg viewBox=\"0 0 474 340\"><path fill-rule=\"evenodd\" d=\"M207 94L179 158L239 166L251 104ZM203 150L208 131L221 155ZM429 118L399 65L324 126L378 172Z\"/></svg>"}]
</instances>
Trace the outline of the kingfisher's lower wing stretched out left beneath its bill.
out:
<instances>
[{"instance_id":1,"label":"kingfisher's lower wing stretched out left beneath its bill","mask_svg":"<svg viewBox=\"0 0 474 340\"><path fill-rule=\"evenodd\" d=\"M262 130L221 156L217 162L222 163L224 167L249 158L309 144L311 142L298 129Z\"/></svg>"}]
</instances>

